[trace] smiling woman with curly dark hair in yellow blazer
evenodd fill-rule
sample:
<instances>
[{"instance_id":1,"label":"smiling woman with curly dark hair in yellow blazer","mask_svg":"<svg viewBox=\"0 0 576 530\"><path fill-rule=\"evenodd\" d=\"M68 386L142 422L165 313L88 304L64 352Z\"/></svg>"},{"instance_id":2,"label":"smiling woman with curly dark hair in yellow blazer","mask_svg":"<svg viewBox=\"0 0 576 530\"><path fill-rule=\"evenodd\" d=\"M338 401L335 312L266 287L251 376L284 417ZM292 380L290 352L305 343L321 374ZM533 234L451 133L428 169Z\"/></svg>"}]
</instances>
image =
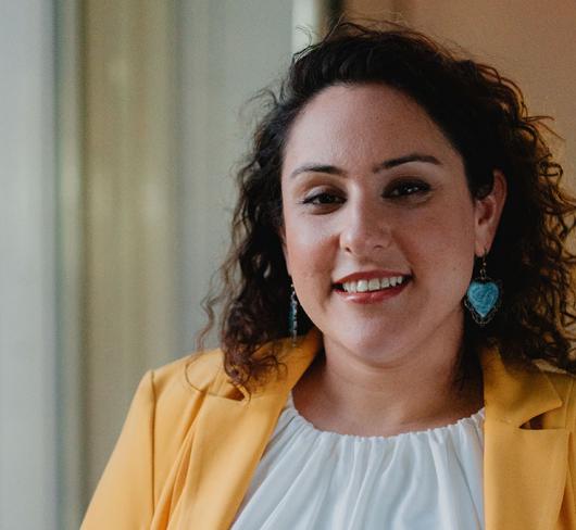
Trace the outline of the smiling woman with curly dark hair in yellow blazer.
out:
<instances>
[{"instance_id":1,"label":"smiling woman with curly dark hair in yellow blazer","mask_svg":"<svg viewBox=\"0 0 576 530\"><path fill-rule=\"evenodd\" d=\"M561 175L516 86L418 33L297 54L222 350L145 376L84 528L576 529Z\"/></svg>"}]
</instances>

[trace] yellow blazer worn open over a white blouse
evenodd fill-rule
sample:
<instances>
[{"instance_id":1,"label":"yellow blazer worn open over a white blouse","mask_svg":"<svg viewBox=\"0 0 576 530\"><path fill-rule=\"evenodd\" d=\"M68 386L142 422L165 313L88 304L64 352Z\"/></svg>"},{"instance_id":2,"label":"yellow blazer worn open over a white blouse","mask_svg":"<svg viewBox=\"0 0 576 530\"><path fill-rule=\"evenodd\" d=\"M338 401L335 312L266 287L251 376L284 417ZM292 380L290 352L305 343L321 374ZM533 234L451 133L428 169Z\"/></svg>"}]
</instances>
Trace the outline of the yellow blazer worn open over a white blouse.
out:
<instances>
[{"instance_id":1,"label":"yellow blazer worn open over a white blouse","mask_svg":"<svg viewBox=\"0 0 576 530\"><path fill-rule=\"evenodd\" d=\"M284 343L284 377L251 400L228 382L218 351L149 371L82 528L229 528L321 340L313 331ZM575 378L513 369L496 351L481 362L486 530L575 530Z\"/></svg>"}]
</instances>

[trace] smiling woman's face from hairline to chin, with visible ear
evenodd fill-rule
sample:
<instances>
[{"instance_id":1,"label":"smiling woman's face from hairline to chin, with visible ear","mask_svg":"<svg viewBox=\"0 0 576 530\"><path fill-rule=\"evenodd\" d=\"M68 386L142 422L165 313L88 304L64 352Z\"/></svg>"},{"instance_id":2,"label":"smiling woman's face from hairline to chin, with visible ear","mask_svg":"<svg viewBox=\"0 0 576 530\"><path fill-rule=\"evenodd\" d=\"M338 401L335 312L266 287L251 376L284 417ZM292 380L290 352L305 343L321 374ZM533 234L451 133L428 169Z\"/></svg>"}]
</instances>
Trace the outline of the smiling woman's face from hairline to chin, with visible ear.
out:
<instances>
[{"instance_id":1,"label":"smiling woman's face from hairline to chin, with visible ear","mask_svg":"<svg viewBox=\"0 0 576 530\"><path fill-rule=\"evenodd\" d=\"M461 333L500 210L471 198L462 157L412 99L320 92L288 136L281 191L288 272L325 342L393 357Z\"/></svg>"}]
</instances>

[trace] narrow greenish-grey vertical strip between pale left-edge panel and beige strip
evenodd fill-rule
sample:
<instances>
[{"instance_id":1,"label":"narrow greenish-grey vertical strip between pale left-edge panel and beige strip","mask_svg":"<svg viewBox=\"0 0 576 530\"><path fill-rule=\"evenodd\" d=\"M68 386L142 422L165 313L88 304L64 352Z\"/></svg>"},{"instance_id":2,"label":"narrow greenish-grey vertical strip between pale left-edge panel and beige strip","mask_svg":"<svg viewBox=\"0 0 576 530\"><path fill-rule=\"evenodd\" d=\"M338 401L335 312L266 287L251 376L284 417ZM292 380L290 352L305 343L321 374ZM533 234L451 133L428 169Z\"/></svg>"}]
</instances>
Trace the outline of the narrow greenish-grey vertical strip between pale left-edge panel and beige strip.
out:
<instances>
[{"instance_id":1,"label":"narrow greenish-grey vertical strip between pale left-edge panel and beige strip","mask_svg":"<svg viewBox=\"0 0 576 530\"><path fill-rule=\"evenodd\" d=\"M54 0L57 105L58 528L74 530L89 492L83 343L86 285L80 0Z\"/></svg>"}]
</instances>

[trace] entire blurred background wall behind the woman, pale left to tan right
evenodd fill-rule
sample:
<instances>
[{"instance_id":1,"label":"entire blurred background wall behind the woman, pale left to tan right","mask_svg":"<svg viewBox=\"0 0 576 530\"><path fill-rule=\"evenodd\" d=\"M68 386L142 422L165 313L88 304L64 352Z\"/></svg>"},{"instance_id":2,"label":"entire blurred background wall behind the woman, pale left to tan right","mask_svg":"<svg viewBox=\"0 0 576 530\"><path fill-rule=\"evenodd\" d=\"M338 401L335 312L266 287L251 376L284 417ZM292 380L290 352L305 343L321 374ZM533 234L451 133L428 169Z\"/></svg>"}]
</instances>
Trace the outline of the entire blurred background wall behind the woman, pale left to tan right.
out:
<instances>
[{"instance_id":1,"label":"entire blurred background wall behind the woman, pale left to tan right","mask_svg":"<svg viewBox=\"0 0 576 530\"><path fill-rule=\"evenodd\" d=\"M0 0L0 528L78 527L139 378L204 324L246 102L341 12L499 66L576 182L571 0Z\"/></svg>"}]
</instances>

